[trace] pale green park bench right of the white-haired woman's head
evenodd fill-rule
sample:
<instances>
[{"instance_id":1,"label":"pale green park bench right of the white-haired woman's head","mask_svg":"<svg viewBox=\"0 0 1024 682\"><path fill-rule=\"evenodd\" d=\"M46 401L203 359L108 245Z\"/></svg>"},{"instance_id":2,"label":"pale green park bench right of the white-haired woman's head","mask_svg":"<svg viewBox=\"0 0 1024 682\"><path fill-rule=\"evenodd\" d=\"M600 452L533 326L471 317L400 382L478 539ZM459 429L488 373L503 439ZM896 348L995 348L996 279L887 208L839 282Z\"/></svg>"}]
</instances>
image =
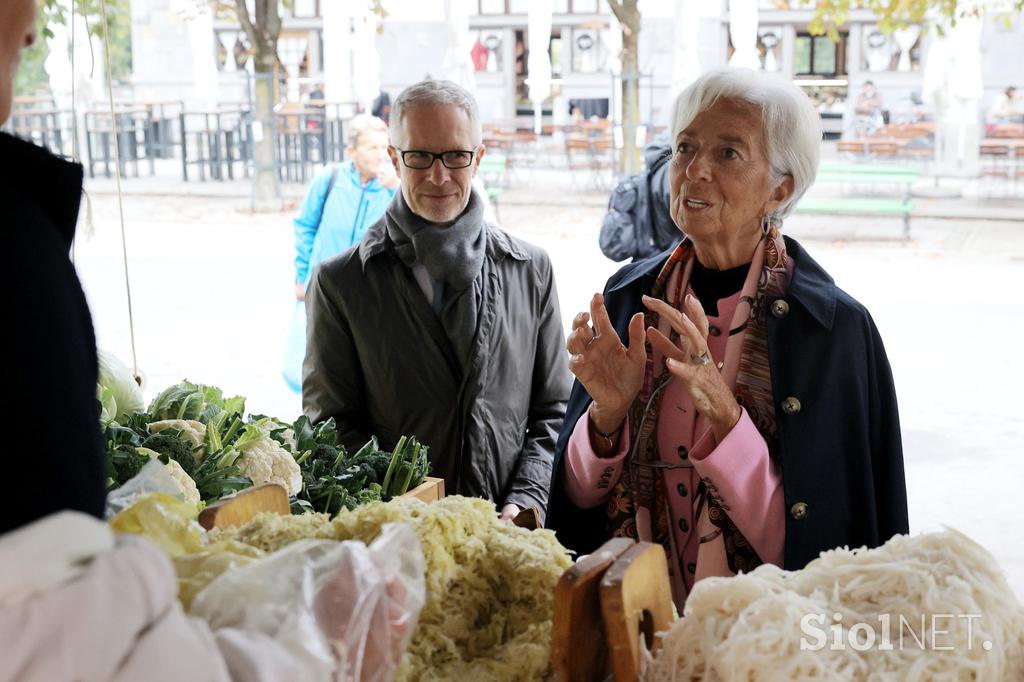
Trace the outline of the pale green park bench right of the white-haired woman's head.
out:
<instances>
[{"instance_id":1,"label":"pale green park bench right of the white-haired woman's head","mask_svg":"<svg viewBox=\"0 0 1024 682\"><path fill-rule=\"evenodd\" d=\"M903 218L903 239L910 239L910 187L921 170L912 165L855 164L826 162L818 167L816 182L840 184L896 185L902 187L900 198L869 197L807 197L797 205L798 213L829 213L840 215L898 215Z\"/></svg>"}]
</instances>

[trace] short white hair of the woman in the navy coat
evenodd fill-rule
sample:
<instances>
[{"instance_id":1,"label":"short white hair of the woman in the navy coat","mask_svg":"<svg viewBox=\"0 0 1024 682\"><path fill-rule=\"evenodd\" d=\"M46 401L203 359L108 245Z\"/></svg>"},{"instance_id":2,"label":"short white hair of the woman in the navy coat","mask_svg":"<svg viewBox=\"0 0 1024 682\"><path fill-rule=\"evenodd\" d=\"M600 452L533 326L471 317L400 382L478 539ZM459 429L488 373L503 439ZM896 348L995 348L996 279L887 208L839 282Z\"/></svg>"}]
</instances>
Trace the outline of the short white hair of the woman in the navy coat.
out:
<instances>
[{"instance_id":1,"label":"short white hair of the woman in the navy coat","mask_svg":"<svg viewBox=\"0 0 1024 682\"><path fill-rule=\"evenodd\" d=\"M772 212L781 220L814 184L821 146L821 119L803 90L773 74L716 69L693 81L672 106L672 143L698 115L719 99L746 102L761 111L765 156L772 182L793 176L793 194Z\"/></svg>"}]
</instances>

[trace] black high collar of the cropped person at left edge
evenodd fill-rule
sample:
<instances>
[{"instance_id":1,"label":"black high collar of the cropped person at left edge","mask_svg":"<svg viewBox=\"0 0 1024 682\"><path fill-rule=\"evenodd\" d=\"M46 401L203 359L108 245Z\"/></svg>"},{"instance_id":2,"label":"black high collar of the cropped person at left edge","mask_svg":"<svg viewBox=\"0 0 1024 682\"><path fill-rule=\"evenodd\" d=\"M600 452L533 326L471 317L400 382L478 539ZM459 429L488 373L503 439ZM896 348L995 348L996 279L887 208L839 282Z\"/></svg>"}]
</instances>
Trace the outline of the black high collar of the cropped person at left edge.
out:
<instances>
[{"instance_id":1,"label":"black high collar of the cropped person at left edge","mask_svg":"<svg viewBox=\"0 0 1024 682\"><path fill-rule=\"evenodd\" d=\"M45 215L70 249L82 199L81 164L6 133L0 133L0 188Z\"/></svg>"}]
</instances>

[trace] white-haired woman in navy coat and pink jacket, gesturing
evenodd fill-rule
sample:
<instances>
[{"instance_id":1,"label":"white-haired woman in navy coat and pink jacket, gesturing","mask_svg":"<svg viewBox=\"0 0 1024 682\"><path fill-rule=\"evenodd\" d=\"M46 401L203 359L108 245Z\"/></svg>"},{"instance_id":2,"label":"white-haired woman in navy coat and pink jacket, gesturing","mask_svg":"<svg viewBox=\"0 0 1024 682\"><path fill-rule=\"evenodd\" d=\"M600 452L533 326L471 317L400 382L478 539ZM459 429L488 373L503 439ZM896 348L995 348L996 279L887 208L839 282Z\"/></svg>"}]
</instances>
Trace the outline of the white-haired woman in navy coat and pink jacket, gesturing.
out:
<instances>
[{"instance_id":1,"label":"white-haired woman in navy coat and pink jacket, gesturing","mask_svg":"<svg viewBox=\"0 0 1024 682\"><path fill-rule=\"evenodd\" d=\"M549 524L582 553L663 544L681 608L709 576L878 546L907 531L907 509L874 324L779 231L817 172L807 97L715 71L677 98L672 138L685 237L572 323Z\"/></svg>"}]
</instances>

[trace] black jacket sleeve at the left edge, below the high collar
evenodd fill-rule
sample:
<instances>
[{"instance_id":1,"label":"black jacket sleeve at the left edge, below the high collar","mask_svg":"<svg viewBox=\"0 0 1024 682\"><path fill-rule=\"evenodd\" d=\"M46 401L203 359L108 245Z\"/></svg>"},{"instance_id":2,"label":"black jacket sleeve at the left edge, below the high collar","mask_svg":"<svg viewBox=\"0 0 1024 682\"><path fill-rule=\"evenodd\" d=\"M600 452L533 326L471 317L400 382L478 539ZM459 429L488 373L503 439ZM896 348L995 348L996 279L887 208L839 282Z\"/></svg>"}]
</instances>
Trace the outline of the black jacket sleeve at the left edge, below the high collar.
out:
<instances>
[{"instance_id":1,"label":"black jacket sleeve at the left edge, below the high collar","mask_svg":"<svg viewBox=\"0 0 1024 682\"><path fill-rule=\"evenodd\" d=\"M102 518L106 458L89 308L56 227L0 188L7 491L0 532L70 509Z\"/></svg>"}]
</instances>

